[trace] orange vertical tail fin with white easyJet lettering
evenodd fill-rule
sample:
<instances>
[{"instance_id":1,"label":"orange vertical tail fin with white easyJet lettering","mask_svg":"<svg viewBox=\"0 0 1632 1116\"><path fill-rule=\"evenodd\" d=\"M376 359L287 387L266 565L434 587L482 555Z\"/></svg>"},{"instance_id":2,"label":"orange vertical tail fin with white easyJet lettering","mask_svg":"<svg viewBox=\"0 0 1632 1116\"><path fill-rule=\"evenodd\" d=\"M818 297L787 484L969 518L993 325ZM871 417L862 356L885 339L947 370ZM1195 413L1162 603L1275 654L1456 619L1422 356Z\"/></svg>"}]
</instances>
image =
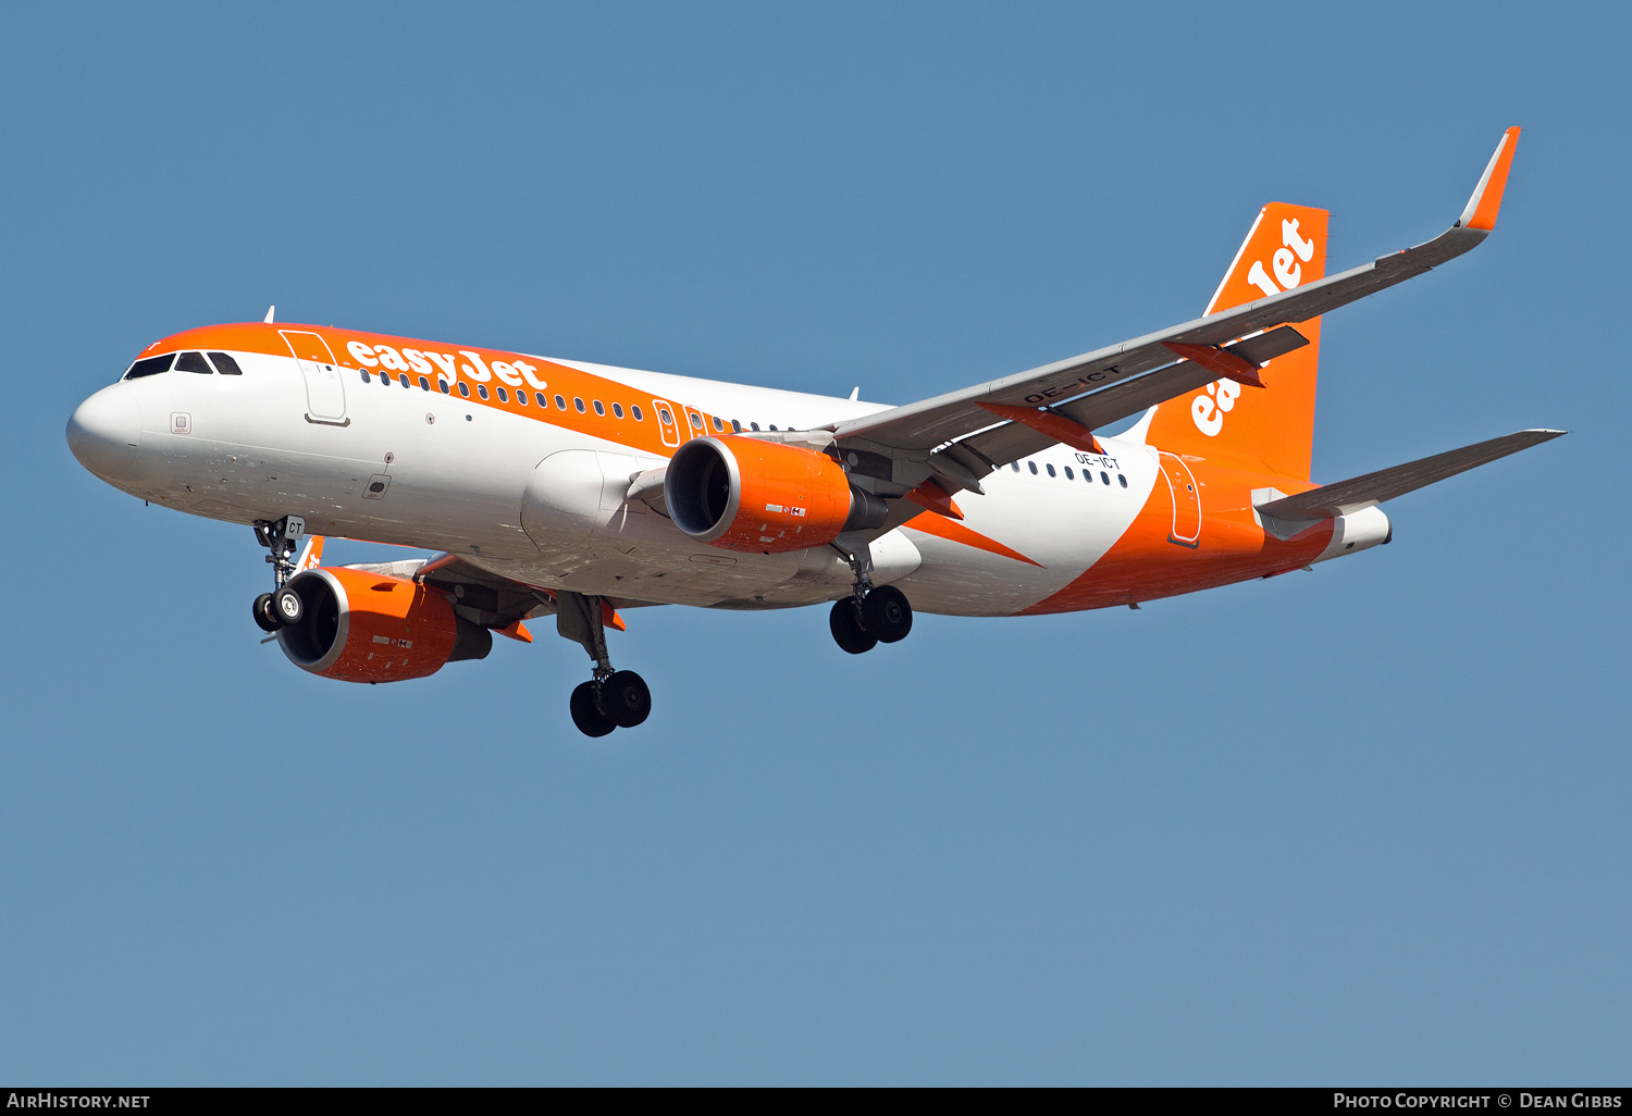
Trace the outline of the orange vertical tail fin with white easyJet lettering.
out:
<instances>
[{"instance_id":1,"label":"orange vertical tail fin with white easyJet lettering","mask_svg":"<svg viewBox=\"0 0 1632 1116\"><path fill-rule=\"evenodd\" d=\"M1270 202L1247 232L1206 313L1325 277L1327 210ZM1146 442L1244 468L1309 480L1320 318L1297 326L1309 344L1263 365L1263 388L1216 380L1155 408Z\"/></svg>"}]
</instances>

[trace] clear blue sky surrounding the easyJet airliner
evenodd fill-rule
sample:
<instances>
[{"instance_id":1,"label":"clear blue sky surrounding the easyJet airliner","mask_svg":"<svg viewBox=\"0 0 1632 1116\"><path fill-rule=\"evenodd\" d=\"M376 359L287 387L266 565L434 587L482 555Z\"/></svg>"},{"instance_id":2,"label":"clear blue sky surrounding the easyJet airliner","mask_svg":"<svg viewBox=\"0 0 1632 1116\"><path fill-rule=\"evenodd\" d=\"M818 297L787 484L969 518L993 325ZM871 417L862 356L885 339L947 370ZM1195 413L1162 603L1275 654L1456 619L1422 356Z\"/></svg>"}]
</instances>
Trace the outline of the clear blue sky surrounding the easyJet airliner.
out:
<instances>
[{"instance_id":1,"label":"clear blue sky surrounding the easyJet airliner","mask_svg":"<svg viewBox=\"0 0 1632 1116\"><path fill-rule=\"evenodd\" d=\"M238 5L0 15L0 1077L1624 1083L1632 178L1617 5ZM641 610L392 687L258 644L248 529L62 437L294 321L909 401L1332 266L1315 478L1567 439L1387 548L1154 602ZM387 553L336 545L341 560Z\"/></svg>"}]
</instances>

